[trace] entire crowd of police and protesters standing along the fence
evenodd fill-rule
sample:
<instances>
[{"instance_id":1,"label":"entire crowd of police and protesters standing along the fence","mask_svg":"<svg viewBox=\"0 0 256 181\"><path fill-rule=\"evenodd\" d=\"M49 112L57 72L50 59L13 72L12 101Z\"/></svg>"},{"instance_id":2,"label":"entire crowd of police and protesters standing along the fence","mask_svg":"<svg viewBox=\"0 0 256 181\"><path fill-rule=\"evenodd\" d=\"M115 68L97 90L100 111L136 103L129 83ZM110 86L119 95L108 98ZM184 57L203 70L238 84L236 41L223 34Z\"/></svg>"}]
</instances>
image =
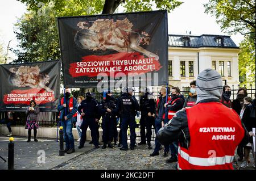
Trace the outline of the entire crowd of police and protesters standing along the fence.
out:
<instances>
[{"instance_id":1,"label":"entire crowd of police and protesters standing along the fence","mask_svg":"<svg viewBox=\"0 0 256 181\"><path fill-rule=\"evenodd\" d=\"M177 162L178 169L232 169L234 151L237 148L239 161L243 161L241 167L245 168L250 163L250 151L254 157L252 131L255 128L255 99L247 96L245 88L240 88L237 98L230 100L230 86L222 86L221 76L217 71L205 69L199 74L196 81L190 83L189 95L185 98L179 87L168 90L162 87L157 99L148 89L138 100L133 95L133 89L126 88L119 98L114 98L112 91L103 92L103 100L98 102L92 92L87 92L77 99L72 95L71 89L65 88L63 98L59 100L57 107L60 111L59 119L63 127L65 140L65 153L75 152L75 141L72 133L73 125L76 125L79 133L79 147L84 147L86 131L90 128L92 141L95 148L100 148L99 121L102 119L102 149L113 148L129 150L127 144L127 129L130 128L130 150L137 146L135 128L136 116L141 112L140 135L141 142L138 145L147 145L152 149L152 127L155 129L155 147L151 157L159 155L159 150L164 148L163 157L170 158L168 163ZM255 95L254 95L255 96ZM28 142L31 141L31 130L34 130L34 141L38 125L39 108L34 100L27 108ZM11 136L10 120L14 112L8 112L6 123ZM242 120L242 121L241 121ZM119 137L117 124L120 124ZM201 133L204 128L234 128L234 139L222 139L222 135L214 137L214 131ZM200 132L198 132L200 130ZM217 130L217 129L216 129ZM146 132L145 132L146 131ZM232 132L232 131L231 131ZM229 133L224 138L229 137ZM215 139L214 139L215 138ZM225 141L224 141L225 140ZM114 141L114 145L112 142ZM117 144L117 142L119 143ZM209 150L216 151L216 159L224 157L224 163L206 163ZM205 155L206 153L206 155ZM191 157L191 158L189 158ZM231 161L232 158L232 161Z\"/></svg>"}]
</instances>

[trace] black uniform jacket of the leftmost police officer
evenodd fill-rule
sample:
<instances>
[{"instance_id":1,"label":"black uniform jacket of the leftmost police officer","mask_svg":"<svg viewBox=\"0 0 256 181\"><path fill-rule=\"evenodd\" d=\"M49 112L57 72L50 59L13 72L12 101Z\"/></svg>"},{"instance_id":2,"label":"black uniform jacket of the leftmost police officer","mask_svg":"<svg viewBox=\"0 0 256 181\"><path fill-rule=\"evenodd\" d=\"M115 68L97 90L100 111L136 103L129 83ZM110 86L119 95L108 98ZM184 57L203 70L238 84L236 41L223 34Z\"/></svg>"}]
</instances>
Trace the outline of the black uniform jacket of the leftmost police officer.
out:
<instances>
[{"instance_id":1,"label":"black uniform jacket of the leftmost police officer","mask_svg":"<svg viewBox=\"0 0 256 181\"><path fill-rule=\"evenodd\" d=\"M83 117L84 118L97 118L97 115L99 113L98 110L98 103L96 100L82 100L81 105L78 108L79 113L81 114L82 112L85 113Z\"/></svg>"}]
</instances>

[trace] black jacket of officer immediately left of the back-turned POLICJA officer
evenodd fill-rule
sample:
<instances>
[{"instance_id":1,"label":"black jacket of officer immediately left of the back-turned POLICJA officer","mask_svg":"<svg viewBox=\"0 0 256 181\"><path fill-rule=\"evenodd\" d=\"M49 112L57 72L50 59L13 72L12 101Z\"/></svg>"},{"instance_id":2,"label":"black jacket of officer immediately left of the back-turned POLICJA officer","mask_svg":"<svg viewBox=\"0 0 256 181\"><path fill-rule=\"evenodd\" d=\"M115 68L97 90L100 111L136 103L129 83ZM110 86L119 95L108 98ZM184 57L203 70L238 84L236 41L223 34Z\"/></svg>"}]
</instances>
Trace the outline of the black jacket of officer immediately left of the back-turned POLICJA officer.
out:
<instances>
[{"instance_id":1,"label":"black jacket of officer immediately left of the back-turned POLICJA officer","mask_svg":"<svg viewBox=\"0 0 256 181\"><path fill-rule=\"evenodd\" d=\"M111 111L113 111L116 108L116 104L115 104L115 99L111 98L111 99L106 99L104 101L102 101L99 105L99 111L101 116L111 116L114 117L116 114L113 112L108 112L106 111L107 108L109 108Z\"/></svg>"}]
</instances>

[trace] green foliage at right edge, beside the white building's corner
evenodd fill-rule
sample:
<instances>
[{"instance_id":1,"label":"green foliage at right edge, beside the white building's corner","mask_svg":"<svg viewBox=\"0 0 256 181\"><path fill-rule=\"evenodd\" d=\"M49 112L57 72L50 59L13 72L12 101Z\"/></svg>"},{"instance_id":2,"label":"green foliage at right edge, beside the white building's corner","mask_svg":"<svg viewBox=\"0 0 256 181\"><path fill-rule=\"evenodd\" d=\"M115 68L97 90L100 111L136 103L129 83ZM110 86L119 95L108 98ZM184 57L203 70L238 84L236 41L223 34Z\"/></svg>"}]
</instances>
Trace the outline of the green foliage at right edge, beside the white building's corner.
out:
<instances>
[{"instance_id":1,"label":"green foliage at right edge, beside the white building's corner","mask_svg":"<svg viewBox=\"0 0 256 181\"><path fill-rule=\"evenodd\" d=\"M255 85L255 44L250 35L245 36L240 48L241 52L238 54L240 82Z\"/></svg>"}]
</instances>

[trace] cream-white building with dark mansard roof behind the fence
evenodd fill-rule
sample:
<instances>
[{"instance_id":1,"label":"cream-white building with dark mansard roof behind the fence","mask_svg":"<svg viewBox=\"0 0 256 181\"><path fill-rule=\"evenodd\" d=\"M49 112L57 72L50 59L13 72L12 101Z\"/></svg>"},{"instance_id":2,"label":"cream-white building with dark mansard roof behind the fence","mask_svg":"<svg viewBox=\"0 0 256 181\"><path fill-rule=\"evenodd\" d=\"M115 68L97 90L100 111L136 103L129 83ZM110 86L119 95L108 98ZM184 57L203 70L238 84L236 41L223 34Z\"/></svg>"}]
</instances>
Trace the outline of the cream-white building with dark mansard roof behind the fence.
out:
<instances>
[{"instance_id":1,"label":"cream-white building with dark mansard roof behind the fence","mask_svg":"<svg viewBox=\"0 0 256 181\"><path fill-rule=\"evenodd\" d=\"M204 69L217 70L223 83L239 84L238 52L230 38L222 35L168 35L169 85L189 86Z\"/></svg>"}]
</instances>

